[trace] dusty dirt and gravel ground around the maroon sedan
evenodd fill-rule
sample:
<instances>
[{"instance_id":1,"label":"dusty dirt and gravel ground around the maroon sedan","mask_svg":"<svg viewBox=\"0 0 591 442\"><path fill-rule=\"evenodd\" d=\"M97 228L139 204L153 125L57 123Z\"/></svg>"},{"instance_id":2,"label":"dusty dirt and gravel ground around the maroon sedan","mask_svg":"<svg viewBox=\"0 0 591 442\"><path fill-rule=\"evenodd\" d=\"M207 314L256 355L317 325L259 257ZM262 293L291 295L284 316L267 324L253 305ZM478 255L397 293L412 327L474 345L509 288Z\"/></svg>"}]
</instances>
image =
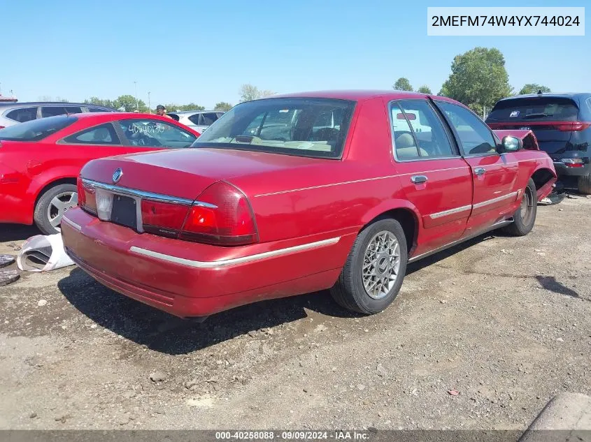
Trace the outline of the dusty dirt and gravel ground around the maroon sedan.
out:
<instances>
[{"instance_id":1,"label":"dusty dirt and gravel ground around the maroon sedan","mask_svg":"<svg viewBox=\"0 0 591 442\"><path fill-rule=\"evenodd\" d=\"M591 394L590 219L539 206L527 237L411 265L369 317L313 293L197 324L76 267L23 274L0 287L0 428L525 429ZM0 253L35 233L0 226Z\"/></svg>"}]
</instances>

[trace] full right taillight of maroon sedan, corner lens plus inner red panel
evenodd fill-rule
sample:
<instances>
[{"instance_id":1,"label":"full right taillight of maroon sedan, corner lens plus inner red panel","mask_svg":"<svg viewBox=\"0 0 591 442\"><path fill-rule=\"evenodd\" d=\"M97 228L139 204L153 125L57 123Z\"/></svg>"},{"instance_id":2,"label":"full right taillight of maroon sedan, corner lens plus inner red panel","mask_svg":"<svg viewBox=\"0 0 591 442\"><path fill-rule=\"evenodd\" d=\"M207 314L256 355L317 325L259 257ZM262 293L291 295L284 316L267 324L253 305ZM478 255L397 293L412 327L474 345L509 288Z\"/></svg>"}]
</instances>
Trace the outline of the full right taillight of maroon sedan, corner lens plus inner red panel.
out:
<instances>
[{"instance_id":1,"label":"full right taillight of maroon sedan, corner lens plus inner red panel","mask_svg":"<svg viewBox=\"0 0 591 442\"><path fill-rule=\"evenodd\" d=\"M248 199L227 182L209 186L193 205L142 200L143 230L180 240L220 246L258 241Z\"/></svg>"}]
</instances>

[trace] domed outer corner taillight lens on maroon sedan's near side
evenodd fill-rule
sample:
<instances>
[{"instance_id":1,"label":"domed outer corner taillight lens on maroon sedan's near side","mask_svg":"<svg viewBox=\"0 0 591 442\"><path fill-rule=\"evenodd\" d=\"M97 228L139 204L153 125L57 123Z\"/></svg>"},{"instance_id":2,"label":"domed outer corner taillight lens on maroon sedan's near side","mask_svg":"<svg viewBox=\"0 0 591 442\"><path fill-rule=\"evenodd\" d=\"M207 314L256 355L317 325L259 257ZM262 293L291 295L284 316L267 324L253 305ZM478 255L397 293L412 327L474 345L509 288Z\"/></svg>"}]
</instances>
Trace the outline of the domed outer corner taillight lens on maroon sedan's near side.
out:
<instances>
[{"instance_id":1,"label":"domed outer corner taillight lens on maroon sedan's near side","mask_svg":"<svg viewBox=\"0 0 591 442\"><path fill-rule=\"evenodd\" d=\"M248 199L227 182L209 186L191 207L180 238L236 246L258 241L255 215ZM201 203L201 205L199 205Z\"/></svg>"}]
</instances>

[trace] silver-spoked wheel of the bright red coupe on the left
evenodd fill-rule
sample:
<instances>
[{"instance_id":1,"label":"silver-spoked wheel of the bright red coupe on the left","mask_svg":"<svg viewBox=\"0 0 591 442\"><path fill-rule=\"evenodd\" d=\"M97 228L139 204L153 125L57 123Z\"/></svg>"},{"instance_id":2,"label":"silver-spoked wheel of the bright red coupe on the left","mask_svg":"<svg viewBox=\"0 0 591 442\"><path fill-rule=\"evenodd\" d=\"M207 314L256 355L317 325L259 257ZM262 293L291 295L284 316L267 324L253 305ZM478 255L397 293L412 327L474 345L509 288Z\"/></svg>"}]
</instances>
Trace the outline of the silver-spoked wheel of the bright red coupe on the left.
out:
<instances>
[{"instance_id":1,"label":"silver-spoked wheel of the bright red coupe on the left","mask_svg":"<svg viewBox=\"0 0 591 442\"><path fill-rule=\"evenodd\" d=\"M78 204L78 189L74 184L57 184L47 189L35 205L34 221L43 235L61 232L59 225L64 213Z\"/></svg>"}]
</instances>

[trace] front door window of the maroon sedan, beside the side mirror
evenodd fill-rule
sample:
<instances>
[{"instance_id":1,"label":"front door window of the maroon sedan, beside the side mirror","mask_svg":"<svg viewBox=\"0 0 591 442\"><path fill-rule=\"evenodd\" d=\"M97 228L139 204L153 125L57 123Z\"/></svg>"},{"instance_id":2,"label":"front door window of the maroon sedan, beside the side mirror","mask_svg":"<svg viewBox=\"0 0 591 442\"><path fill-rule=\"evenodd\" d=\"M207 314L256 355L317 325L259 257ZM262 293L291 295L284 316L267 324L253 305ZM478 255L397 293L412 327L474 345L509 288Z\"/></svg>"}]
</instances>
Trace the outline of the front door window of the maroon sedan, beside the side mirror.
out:
<instances>
[{"instance_id":1,"label":"front door window of the maroon sedan, beside the side mirror","mask_svg":"<svg viewBox=\"0 0 591 442\"><path fill-rule=\"evenodd\" d=\"M497 142L495 142L492 132L484 121L462 106L445 101L440 101L437 105L455 128L464 155L483 155L497 152Z\"/></svg>"}]
</instances>

